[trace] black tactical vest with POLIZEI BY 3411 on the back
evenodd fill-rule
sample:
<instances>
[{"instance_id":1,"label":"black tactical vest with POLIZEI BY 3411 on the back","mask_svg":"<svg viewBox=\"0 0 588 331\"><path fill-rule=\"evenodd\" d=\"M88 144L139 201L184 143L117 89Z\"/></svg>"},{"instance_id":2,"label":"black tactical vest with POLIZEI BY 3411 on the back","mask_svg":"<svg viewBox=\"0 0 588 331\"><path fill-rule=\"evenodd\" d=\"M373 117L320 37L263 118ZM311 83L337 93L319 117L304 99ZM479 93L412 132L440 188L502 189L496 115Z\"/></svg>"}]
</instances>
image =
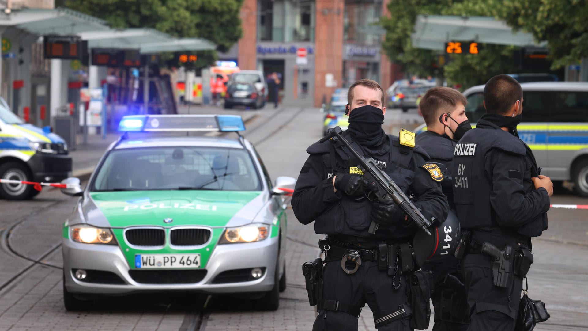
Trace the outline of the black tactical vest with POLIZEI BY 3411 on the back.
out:
<instances>
[{"instance_id":1,"label":"black tactical vest with POLIZEI BY 3411 on the back","mask_svg":"<svg viewBox=\"0 0 588 331\"><path fill-rule=\"evenodd\" d=\"M490 205L492 178L484 171L486 153L498 148L525 155L524 143L503 130L475 128L468 131L453 153L453 198L463 229L499 227Z\"/></svg>"}]
</instances>

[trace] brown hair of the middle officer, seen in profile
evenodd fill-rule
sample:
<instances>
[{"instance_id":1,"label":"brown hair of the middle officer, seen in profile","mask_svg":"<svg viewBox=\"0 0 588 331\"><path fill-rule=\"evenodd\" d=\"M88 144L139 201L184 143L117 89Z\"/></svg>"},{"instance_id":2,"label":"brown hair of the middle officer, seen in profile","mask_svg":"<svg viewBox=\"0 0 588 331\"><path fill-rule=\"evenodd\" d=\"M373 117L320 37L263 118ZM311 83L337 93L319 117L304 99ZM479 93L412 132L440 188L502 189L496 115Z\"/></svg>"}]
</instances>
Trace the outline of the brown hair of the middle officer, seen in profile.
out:
<instances>
[{"instance_id":1,"label":"brown hair of the middle officer, seen in profile","mask_svg":"<svg viewBox=\"0 0 588 331\"><path fill-rule=\"evenodd\" d=\"M433 87L420 99L420 113L427 125L433 125L439 121L439 116L444 112L450 112L457 104L467 105L466 97L461 92L450 87Z\"/></svg>"}]
</instances>

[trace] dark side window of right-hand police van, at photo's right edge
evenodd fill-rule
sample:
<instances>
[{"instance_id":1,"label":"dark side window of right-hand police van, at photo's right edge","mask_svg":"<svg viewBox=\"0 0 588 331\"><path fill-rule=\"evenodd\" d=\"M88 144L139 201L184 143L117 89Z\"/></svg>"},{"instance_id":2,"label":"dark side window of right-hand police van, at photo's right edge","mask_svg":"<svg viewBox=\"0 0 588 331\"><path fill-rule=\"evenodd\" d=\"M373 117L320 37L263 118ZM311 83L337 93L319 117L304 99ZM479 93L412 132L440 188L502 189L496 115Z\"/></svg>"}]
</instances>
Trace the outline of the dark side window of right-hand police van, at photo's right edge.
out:
<instances>
[{"instance_id":1,"label":"dark side window of right-hand police van, at photo's right edge","mask_svg":"<svg viewBox=\"0 0 588 331\"><path fill-rule=\"evenodd\" d=\"M553 92L551 120L553 122L588 122L588 92Z\"/></svg>"}]
</instances>

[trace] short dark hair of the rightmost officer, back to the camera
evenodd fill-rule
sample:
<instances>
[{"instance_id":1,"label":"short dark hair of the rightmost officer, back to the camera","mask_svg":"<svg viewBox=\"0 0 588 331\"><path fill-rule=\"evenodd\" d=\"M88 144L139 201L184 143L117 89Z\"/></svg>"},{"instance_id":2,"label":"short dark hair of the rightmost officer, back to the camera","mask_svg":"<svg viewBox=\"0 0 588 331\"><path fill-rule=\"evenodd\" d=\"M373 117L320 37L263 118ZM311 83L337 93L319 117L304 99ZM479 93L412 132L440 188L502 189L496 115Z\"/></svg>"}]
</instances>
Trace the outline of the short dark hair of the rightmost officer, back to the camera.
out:
<instances>
[{"instance_id":1,"label":"short dark hair of the rightmost officer, back to the camera","mask_svg":"<svg viewBox=\"0 0 588 331\"><path fill-rule=\"evenodd\" d=\"M490 78L484 87L484 102L489 114L503 115L517 100L523 100L523 88L509 75Z\"/></svg>"}]
</instances>

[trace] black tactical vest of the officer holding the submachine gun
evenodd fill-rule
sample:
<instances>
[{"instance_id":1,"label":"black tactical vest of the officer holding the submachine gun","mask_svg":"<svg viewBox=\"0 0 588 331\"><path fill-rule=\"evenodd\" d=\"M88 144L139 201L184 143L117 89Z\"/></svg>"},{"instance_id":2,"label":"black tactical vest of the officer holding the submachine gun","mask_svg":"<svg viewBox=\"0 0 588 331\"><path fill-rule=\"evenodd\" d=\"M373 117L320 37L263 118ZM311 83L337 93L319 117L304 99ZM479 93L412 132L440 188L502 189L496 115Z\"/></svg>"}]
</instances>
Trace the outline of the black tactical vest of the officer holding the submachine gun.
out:
<instances>
[{"instance_id":1,"label":"black tactical vest of the officer holding the submachine gun","mask_svg":"<svg viewBox=\"0 0 588 331\"><path fill-rule=\"evenodd\" d=\"M362 154L362 148L359 147L351 135L343 133L346 140L352 144L353 148ZM425 155L422 148L416 146L409 148L400 145L398 137L388 135L388 143L390 144L390 151L379 157L373 157L376 161L385 164L385 173L395 181L402 191L407 194L410 184L412 184L415 177L414 171L408 170L412 153L415 151ZM358 169L359 160L357 160L348 151L348 149L338 142L332 143L330 141L323 144L315 143L310 145L306 150L309 154L322 154L323 165L325 166L324 178L329 178L337 173L354 173L362 175ZM363 155L368 158L369 155ZM333 160L334 164L333 164ZM368 233L369 225L371 223L370 211L372 210L373 201L366 197L354 198L343 194L342 198L333 203L331 207L325 210L315 220L315 232L318 234L330 235L351 235L359 237L371 237L380 239L400 239L412 237L415 230L407 229L400 226L396 227L380 227L376 234Z\"/></svg>"}]
</instances>

